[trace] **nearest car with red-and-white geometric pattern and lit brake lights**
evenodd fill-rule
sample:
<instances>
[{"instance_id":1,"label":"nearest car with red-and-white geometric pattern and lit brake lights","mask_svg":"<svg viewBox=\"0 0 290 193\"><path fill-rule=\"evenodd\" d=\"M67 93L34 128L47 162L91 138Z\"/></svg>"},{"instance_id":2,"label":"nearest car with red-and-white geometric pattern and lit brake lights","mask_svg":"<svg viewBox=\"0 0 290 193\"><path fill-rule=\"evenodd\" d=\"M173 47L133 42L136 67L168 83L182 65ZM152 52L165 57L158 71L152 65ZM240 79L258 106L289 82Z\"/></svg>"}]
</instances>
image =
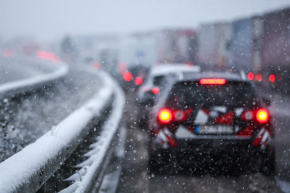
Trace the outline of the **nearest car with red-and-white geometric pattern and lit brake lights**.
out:
<instances>
[{"instance_id":1,"label":"nearest car with red-and-white geometric pattern and lit brake lights","mask_svg":"<svg viewBox=\"0 0 290 193\"><path fill-rule=\"evenodd\" d=\"M184 75L150 112L149 169L273 175L274 128L253 82L230 72Z\"/></svg>"}]
</instances>

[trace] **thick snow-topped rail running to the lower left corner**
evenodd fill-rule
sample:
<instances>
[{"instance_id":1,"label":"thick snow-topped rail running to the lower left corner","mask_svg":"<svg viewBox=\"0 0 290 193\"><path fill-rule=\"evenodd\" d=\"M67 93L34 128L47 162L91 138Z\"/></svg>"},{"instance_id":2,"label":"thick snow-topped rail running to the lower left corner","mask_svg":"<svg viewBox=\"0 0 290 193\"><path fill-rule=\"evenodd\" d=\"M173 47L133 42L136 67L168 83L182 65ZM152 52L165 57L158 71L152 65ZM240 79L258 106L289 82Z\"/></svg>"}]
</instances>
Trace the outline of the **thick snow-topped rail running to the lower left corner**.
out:
<instances>
[{"instance_id":1,"label":"thick snow-topped rail running to the lower left corner","mask_svg":"<svg viewBox=\"0 0 290 193\"><path fill-rule=\"evenodd\" d=\"M113 89L104 84L91 100L59 125L0 163L0 192L37 191L85 138L92 118L111 104Z\"/></svg>"}]
</instances>

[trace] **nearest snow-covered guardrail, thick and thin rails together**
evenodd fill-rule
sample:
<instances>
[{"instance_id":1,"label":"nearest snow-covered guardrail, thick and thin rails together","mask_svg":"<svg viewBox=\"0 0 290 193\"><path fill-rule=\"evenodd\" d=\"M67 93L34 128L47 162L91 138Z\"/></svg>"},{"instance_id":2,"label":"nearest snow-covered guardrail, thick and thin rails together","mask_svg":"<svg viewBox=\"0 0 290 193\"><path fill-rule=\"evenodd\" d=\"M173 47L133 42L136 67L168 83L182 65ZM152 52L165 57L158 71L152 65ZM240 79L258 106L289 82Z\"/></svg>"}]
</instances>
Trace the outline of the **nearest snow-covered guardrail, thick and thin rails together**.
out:
<instances>
[{"instance_id":1,"label":"nearest snow-covered guardrail, thick and thin rails together","mask_svg":"<svg viewBox=\"0 0 290 193\"><path fill-rule=\"evenodd\" d=\"M34 143L0 163L0 192L36 192L81 144L89 133L88 123L98 118L103 109L111 106L113 110L110 118L103 126L104 131L98 142L94 144L95 151L84 155L89 156L88 161L79 166L86 168L82 175L83 180L74 183L69 190L63 190L89 191L91 179L98 172L106 150L112 142L124 106L124 94L121 89L114 87L108 76L104 82L106 84L86 104Z\"/></svg>"}]
</instances>

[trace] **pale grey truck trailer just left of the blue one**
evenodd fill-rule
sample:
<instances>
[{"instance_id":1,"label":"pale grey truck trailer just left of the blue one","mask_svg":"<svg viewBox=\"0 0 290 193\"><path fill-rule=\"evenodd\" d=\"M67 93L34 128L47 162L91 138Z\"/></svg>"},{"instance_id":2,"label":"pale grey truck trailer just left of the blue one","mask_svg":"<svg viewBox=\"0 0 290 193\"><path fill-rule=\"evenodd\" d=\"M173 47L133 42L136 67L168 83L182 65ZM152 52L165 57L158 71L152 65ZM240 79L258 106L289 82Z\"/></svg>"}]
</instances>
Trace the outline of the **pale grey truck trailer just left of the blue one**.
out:
<instances>
[{"instance_id":1,"label":"pale grey truck trailer just left of the blue one","mask_svg":"<svg viewBox=\"0 0 290 193\"><path fill-rule=\"evenodd\" d=\"M198 63L201 68L210 70L231 66L231 23L203 24L199 28L198 36Z\"/></svg>"}]
</instances>

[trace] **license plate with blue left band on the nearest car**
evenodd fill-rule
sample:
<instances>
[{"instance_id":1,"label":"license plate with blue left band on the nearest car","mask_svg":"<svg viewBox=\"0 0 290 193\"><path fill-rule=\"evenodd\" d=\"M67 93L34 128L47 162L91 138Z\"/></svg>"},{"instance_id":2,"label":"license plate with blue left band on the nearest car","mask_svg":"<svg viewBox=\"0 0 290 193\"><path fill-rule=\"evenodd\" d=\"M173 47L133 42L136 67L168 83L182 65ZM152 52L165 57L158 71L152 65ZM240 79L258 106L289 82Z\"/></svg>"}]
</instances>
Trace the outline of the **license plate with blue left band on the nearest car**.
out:
<instances>
[{"instance_id":1,"label":"license plate with blue left band on the nearest car","mask_svg":"<svg viewBox=\"0 0 290 193\"><path fill-rule=\"evenodd\" d=\"M232 125L198 125L195 126L197 134L232 134L234 127Z\"/></svg>"}]
</instances>

